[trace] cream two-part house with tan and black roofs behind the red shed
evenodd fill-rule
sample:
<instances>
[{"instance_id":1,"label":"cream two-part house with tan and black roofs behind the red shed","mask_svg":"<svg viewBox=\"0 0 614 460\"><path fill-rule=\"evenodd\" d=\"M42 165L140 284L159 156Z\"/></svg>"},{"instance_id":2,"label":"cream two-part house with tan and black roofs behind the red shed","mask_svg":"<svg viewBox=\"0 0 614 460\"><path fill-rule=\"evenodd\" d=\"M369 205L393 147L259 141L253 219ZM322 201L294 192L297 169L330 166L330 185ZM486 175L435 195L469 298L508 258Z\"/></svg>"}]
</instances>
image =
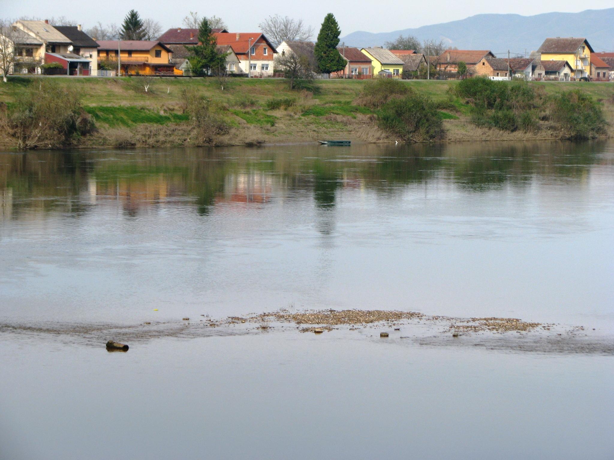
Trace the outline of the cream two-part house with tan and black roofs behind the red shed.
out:
<instances>
[{"instance_id":1,"label":"cream two-part house with tan and black roofs behind the red shed","mask_svg":"<svg viewBox=\"0 0 614 460\"><path fill-rule=\"evenodd\" d=\"M42 64L56 62L66 69L68 75L96 74L98 45L82 31L81 25L53 26L48 20L19 20L12 27L31 38L21 48L25 49L24 57L36 61L37 71ZM28 64L30 67L27 69L33 71L32 63Z\"/></svg>"}]
</instances>

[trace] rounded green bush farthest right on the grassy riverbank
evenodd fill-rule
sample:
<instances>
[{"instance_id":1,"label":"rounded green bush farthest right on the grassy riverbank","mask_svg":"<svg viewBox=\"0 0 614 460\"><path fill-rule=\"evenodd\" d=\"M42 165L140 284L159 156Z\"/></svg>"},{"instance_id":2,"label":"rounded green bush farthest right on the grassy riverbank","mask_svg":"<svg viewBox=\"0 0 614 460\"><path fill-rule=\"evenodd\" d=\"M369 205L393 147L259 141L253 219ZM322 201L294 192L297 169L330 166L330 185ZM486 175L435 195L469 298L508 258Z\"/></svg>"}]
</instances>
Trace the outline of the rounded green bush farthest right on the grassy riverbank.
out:
<instances>
[{"instance_id":1,"label":"rounded green bush farthest right on the grassy riverbank","mask_svg":"<svg viewBox=\"0 0 614 460\"><path fill-rule=\"evenodd\" d=\"M607 122L601 107L579 90L551 96L549 115L564 130L567 139L591 139L605 134Z\"/></svg>"}]
</instances>

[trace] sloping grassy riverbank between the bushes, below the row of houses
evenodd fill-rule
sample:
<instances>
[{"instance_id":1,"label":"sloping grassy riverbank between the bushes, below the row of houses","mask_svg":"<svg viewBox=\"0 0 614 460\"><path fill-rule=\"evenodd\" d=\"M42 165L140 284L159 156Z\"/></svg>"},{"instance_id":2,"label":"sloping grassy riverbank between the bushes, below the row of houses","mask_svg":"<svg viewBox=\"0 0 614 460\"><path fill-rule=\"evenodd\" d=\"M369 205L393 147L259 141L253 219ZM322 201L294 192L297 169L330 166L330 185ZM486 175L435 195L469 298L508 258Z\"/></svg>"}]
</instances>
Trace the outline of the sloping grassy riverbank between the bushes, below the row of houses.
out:
<instances>
[{"instance_id":1,"label":"sloping grassy riverbank between the bushes, below the row of houses","mask_svg":"<svg viewBox=\"0 0 614 460\"><path fill-rule=\"evenodd\" d=\"M12 77L0 85L0 103L14 103L36 79ZM211 112L228 130L212 141L220 145L308 142L318 139L350 139L364 142L394 142L376 123L377 110L358 105L367 85L364 80L322 80L303 90L290 91L287 82L276 79L230 79L221 89L216 79L156 79L145 92L139 79L55 77L60 87L73 88L81 96L85 111L96 129L79 137L77 146L164 146L198 145L190 131L185 92L203 96ZM557 139L561 133L544 129L508 132L479 127L471 122L470 102L452 96L454 81L403 81L416 93L439 104L443 140ZM36 83L34 83L36 84ZM531 86L545 94L580 90L600 101L607 135L614 126L614 83L535 82ZM9 145L7 139L0 140Z\"/></svg>"}]
</instances>

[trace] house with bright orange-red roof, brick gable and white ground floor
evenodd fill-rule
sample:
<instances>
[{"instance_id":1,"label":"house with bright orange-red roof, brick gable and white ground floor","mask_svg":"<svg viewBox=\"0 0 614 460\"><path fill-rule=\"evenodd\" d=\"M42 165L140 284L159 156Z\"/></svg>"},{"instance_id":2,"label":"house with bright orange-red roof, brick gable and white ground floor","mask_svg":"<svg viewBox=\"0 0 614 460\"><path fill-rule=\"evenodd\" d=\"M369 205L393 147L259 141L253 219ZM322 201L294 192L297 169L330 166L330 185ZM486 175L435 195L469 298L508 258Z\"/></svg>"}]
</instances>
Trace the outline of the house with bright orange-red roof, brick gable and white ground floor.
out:
<instances>
[{"instance_id":1,"label":"house with bright orange-red roof, brick gable and white ground floor","mask_svg":"<svg viewBox=\"0 0 614 460\"><path fill-rule=\"evenodd\" d=\"M217 44L230 45L239 59L237 71L249 72L252 77L273 75L273 56L277 51L262 33L228 33L214 34Z\"/></svg>"}]
</instances>

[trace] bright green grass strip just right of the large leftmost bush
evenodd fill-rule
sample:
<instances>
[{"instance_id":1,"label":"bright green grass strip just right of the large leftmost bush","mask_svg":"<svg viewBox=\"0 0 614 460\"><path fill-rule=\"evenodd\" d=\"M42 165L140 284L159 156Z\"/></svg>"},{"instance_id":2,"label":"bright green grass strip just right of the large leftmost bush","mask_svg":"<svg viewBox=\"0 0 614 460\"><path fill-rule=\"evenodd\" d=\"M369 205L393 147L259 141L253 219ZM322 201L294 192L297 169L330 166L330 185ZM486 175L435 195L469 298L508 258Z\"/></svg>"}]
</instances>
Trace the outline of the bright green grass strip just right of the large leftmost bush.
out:
<instances>
[{"instance_id":1,"label":"bright green grass strip just right of the large leftmost bush","mask_svg":"<svg viewBox=\"0 0 614 460\"><path fill-rule=\"evenodd\" d=\"M166 123L177 123L187 121L187 114L170 112L168 115L161 115L147 107L135 107L134 105L120 107L90 106L85 107L96 123L105 123L110 127L133 126L141 123L152 125L165 125Z\"/></svg>"}]
</instances>

